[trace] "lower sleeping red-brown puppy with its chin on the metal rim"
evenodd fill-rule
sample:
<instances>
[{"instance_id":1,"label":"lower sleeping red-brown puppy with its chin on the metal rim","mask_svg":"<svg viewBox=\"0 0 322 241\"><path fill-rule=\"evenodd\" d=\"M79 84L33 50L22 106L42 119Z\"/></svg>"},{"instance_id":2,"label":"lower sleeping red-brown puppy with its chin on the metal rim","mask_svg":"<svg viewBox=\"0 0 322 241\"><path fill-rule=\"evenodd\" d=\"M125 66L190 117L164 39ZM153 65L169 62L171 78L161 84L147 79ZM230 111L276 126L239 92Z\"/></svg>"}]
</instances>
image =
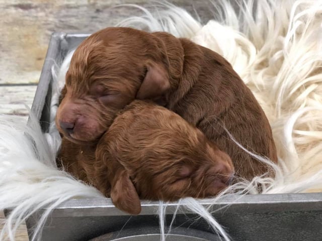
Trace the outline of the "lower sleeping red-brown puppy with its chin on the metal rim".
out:
<instances>
[{"instance_id":1,"label":"lower sleeping red-brown puppy with its chin on the metal rim","mask_svg":"<svg viewBox=\"0 0 322 241\"><path fill-rule=\"evenodd\" d=\"M63 139L58 159L131 214L141 211L139 198L214 196L234 175L228 155L200 130L178 114L140 100L119 112L97 146Z\"/></svg>"}]
</instances>

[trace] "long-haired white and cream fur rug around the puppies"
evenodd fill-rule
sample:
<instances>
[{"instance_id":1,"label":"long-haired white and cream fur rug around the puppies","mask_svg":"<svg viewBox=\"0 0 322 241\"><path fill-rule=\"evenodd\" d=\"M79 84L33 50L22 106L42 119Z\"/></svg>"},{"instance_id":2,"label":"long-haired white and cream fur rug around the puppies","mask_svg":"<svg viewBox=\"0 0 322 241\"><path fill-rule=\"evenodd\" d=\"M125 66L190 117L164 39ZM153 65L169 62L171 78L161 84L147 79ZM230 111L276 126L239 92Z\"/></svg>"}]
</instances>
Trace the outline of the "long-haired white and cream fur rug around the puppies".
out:
<instances>
[{"instance_id":1,"label":"long-haired white and cream fur rug around the puppies","mask_svg":"<svg viewBox=\"0 0 322 241\"><path fill-rule=\"evenodd\" d=\"M279 157L278 165L272 164L275 178L255 177L221 195L256 194L258 183L265 184L263 193L321 192L322 2L245 0L240 1L236 13L227 1L216 1L214 19L205 25L171 4L153 11L140 9L142 16L126 19L118 26L167 31L218 52L253 91L270 121ZM71 54L53 66L54 113ZM53 123L49 133L43 134L32 114L28 126L12 116L0 118L0 210L13 209L0 240L14 240L18 225L39 208L47 207L34 232L33 240L40 239L36 234L41 233L44 221L57 205L71 198L102 197L95 188L57 170L55 155L60 137ZM230 240L229 233L198 200L187 198L180 203L205 218L223 239ZM160 202L162 230L165 206Z\"/></svg>"}]
</instances>

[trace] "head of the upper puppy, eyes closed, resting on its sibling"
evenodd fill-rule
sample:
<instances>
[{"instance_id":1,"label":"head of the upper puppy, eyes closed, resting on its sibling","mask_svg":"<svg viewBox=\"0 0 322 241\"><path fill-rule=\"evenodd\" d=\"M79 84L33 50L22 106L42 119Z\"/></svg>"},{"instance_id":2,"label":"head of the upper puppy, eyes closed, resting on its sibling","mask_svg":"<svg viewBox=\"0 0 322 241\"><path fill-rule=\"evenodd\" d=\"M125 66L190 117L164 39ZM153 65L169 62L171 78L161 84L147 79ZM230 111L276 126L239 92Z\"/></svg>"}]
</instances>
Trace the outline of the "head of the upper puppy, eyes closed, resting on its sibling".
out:
<instances>
[{"instance_id":1,"label":"head of the upper puppy, eyes closed, resting on its sibling","mask_svg":"<svg viewBox=\"0 0 322 241\"><path fill-rule=\"evenodd\" d=\"M97 140L133 99L155 99L170 86L169 59L160 38L129 28L107 28L74 52L56 115L72 142Z\"/></svg>"}]
</instances>

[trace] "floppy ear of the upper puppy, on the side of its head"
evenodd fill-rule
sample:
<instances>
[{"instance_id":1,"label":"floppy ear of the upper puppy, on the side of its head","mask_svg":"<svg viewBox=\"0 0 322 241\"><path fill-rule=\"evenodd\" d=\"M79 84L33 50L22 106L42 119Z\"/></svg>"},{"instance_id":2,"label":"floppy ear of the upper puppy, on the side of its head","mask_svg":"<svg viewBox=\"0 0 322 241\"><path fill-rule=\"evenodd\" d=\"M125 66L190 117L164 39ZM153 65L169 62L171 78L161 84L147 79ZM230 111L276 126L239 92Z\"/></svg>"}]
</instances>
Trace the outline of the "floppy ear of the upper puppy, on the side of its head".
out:
<instances>
[{"instance_id":1,"label":"floppy ear of the upper puppy, on the side of its head","mask_svg":"<svg viewBox=\"0 0 322 241\"><path fill-rule=\"evenodd\" d=\"M151 99L163 95L170 88L169 73L162 64L149 63L137 99Z\"/></svg>"}]
</instances>

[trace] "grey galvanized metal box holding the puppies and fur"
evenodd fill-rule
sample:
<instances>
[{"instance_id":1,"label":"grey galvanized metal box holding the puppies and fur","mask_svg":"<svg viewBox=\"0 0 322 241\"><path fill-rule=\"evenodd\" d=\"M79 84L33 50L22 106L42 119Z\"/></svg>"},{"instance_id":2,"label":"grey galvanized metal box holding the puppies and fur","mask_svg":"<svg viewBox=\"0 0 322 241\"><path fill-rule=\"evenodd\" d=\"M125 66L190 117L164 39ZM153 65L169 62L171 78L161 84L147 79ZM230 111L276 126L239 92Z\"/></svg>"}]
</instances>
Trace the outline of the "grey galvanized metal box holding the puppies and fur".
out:
<instances>
[{"instance_id":1,"label":"grey galvanized metal box holding the puppies and fur","mask_svg":"<svg viewBox=\"0 0 322 241\"><path fill-rule=\"evenodd\" d=\"M51 66L60 62L88 35L54 33L32 105L43 132L48 129L51 99ZM201 201L211 204L209 199ZM233 240L322 240L322 193L236 195L213 204L225 207L213 216L226 227ZM167 224L176 203L168 205ZM75 199L57 207L48 218L42 239L49 240L159 240L158 202L142 202L142 212L130 216L114 207L109 198ZM38 214L27 220L31 235ZM196 214L180 209L167 240L220 240ZM105 234L105 235L103 235ZM103 235L101 237L98 237Z\"/></svg>"}]
</instances>

